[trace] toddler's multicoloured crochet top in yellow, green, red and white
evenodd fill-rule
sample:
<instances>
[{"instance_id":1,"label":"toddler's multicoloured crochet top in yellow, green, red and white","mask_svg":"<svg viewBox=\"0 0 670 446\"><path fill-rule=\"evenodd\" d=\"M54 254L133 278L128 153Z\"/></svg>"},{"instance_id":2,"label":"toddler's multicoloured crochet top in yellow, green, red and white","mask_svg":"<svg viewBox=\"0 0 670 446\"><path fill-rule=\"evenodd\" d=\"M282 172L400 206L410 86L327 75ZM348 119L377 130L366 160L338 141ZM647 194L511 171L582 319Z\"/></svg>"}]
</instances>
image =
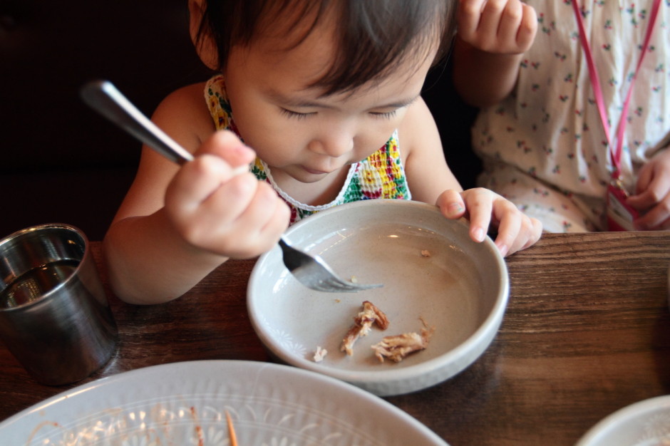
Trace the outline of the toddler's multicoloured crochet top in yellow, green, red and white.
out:
<instances>
[{"instance_id":1,"label":"toddler's multicoloured crochet top in yellow, green, red and white","mask_svg":"<svg viewBox=\"0 0 670 446\"><path fill-rule=\"evenodd\" d=\"M233 122L223 76L217 75L207 81L205 99L217 130L232 130L239 136L237 127ZM383 147L365 160L356 162L349 167L349 174L346 176L344 186L337 197L327 204L310 206L287 195L272 179L272 172L270 172L269 167L259 158L256 159L251 170L259 180L267 181L272 185L277 194L287 202L291 209L291 224L314 214L314 212L361 199L411 199L400 150L398 150L397 130L393 132L393 135Z\"/></svg>"}]
</instances>

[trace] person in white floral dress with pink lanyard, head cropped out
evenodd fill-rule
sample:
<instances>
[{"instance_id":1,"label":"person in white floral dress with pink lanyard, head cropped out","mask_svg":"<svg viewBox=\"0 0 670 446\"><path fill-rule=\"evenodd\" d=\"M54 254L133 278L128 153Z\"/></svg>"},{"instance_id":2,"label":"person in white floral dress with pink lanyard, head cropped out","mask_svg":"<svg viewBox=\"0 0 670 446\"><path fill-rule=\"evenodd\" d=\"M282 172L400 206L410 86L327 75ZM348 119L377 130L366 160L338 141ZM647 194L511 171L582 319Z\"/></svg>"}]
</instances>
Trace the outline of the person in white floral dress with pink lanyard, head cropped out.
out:
<instances>
[{"instance_id":1,"label":"person in white floral dress with pink lanyard, head cropped out","mask_svg":"<svg viewBox=\"0 0 670 446\"><path fill-rule=\"evenodd\" d=\"M670 2L461 0L457 15L479 184L548 232L670 229Z\"/></svg>"}]
</instances>

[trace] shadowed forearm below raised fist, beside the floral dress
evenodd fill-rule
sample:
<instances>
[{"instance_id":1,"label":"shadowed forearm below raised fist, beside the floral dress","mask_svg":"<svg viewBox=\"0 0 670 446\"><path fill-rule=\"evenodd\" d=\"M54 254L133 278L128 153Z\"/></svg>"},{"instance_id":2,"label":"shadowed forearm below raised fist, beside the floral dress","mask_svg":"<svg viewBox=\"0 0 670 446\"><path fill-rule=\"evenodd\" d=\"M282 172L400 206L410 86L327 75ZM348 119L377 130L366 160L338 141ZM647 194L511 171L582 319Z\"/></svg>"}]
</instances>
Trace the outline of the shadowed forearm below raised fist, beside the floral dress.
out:
<instances>
[{"instance_id":1,"label":"shadowed forearm below raised fist, beside the floral dress","mask_svg":"<svg viewBox=\"0 0 670 446\"><path fill-rule=\"evenodd\" d=\"M480 51L457 37L453 52L455 88L470 105L495 105L512 93L522 57L522 53Z\"/></svg>"}]
</instances>

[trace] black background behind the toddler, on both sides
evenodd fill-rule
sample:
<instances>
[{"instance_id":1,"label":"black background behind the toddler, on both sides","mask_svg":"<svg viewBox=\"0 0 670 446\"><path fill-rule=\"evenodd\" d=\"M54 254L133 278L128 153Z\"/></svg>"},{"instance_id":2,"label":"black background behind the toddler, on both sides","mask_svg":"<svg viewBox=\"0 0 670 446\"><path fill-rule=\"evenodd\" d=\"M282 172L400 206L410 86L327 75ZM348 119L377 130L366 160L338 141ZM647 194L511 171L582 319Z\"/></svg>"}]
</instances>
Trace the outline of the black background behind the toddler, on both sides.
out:
<instances>
[{"instance_id":1,"label":"black background behind the toddler, on both sides","mask_svg":"<svg viewBox=\"0 0 670 446\"><path fill-rule=\"evenodd\" d=\"M186 0L0 0L0 237L62 222L103 238L135 175L140 143L84 105L105 78L144 113L205 80L187 31ZM469 147L474 110L440 66L424 98L463 187L480 168Z\"/></svg>"}]
</instances>

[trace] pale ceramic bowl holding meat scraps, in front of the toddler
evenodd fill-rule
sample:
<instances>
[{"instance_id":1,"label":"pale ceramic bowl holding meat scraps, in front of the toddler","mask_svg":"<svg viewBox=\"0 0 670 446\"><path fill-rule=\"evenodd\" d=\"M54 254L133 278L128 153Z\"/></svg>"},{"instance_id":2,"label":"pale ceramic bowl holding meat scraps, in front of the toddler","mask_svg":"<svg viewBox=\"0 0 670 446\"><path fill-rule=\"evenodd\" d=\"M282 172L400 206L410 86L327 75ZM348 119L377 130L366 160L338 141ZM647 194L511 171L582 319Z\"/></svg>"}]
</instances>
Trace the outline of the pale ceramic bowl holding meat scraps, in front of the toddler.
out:
<instances>
[{"instance_id":1,"label":"pale ceramic bowl holding meat scraps, in front of the toddler","mask_svg":"<svg viewBox=\"0 0 670 446\"><path fill-rule=\"evenodd\" d=\"M249 279L249 317L269 352L284 363L376 395L409 393L468 367L503 320L509 296L503 257L490 239L473 242L467 222L446 219L435 206L385 199L344 204L295 224L286 238L344 278L384 286L359 293L312 291L284 267L279 247L262 255ZM365 300L390 324L359 338L354 354L346 356L341 341ZM420 333L421 318L435 327L428 348L400 363L375 358L374 343ZM318 363L317 346L328 351Z\"/></svg>"}]
</instances>

